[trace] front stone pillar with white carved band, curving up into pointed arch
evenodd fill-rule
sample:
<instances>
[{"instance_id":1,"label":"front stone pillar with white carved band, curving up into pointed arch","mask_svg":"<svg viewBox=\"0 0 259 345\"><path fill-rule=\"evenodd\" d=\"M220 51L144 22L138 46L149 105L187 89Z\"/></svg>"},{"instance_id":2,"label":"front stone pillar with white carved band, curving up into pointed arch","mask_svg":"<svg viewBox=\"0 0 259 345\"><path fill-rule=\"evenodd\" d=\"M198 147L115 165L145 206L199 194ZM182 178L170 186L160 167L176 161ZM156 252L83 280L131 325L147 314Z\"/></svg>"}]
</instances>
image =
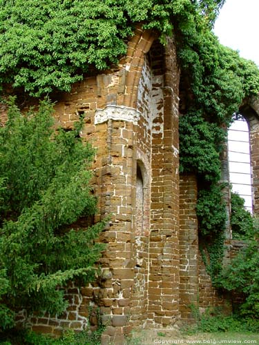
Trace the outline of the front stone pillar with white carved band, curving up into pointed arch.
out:
<instances>
[{"instance_id":1,"label":"front stone pillar with white carved band, curving up into pointed arch","mask_svg":"<svg viewBox=\"0 0 259 345\"><path fill-rule=\"evenodd\" d=\"M147 112L137 107L137 99L143 95L140 77L153 39L152 32L138 28L119 70L97 76L96 134L100 128L106 136L102 158L97 153L97 161L102 161L97 195L101 195L101 214L111 215L110 225L102 235L107 250L101 259L103 270L109 270L111 277L98 294L108 325L104 344L122 344L131 326L142 326L147 317L151 146L146 139ZM141 209L136 195L140 184L137 165L142 172L142 229L136 224L136 213Z\"/></svg>"}]
</instances>

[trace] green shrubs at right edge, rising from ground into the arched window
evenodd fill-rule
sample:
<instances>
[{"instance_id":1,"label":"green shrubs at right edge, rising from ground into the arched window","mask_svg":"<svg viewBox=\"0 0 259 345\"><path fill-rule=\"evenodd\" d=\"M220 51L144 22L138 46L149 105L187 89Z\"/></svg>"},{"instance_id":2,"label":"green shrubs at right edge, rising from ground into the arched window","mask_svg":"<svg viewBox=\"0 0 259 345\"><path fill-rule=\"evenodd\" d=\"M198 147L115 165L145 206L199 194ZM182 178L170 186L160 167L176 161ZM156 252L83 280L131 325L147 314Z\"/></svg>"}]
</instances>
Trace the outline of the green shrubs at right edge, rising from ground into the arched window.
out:
<instances>
[{"instance_id":1,"label":"green shrubs at right edge, rising from ground into the arched window","mask_svg":"<svg viewBox=\"0 0 259 345\"><path fill-rule=\"evenodd\" d=\"M241 295L244 302L237 306L237 313L259 324L258 224L245 210L244 199L237 193L231 193L231 227L233 238L246 240L247 246L220 271L214 283L218 288Z\"/></svg>"}]
</instances>

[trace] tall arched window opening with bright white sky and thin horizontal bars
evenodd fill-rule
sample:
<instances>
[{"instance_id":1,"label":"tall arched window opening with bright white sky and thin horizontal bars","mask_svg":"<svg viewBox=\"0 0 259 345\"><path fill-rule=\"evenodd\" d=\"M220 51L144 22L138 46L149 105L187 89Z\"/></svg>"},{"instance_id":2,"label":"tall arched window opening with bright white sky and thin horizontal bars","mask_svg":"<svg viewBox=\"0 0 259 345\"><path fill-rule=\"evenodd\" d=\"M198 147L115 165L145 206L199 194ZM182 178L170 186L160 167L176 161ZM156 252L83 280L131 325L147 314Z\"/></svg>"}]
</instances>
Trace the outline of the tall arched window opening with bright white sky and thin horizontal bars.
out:
<instances>
[{"instance_id":1,"label":"tall arched window opening with bright white sky and thin horizontal bars","mask_svg":"<svg viewBox=\"0 0 259 345\"><path fill-rule=\"evenodd\" d=\"M242 115L234 116L228 131L229 181L232 191L244 199L245 208L252 213L249 128Z\"/></svg>"}]
</instances>

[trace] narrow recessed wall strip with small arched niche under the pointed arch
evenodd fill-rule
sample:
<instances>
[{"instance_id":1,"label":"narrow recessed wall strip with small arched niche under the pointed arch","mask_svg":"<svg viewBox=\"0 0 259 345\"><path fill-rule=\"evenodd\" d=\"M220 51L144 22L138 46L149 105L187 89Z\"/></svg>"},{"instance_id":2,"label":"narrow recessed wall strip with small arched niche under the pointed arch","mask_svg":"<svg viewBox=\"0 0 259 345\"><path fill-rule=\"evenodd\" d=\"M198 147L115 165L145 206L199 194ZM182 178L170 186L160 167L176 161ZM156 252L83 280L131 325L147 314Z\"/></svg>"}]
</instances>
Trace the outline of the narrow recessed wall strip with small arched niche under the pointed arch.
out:
<instances>
[{"instance_id":1,"label":"narrow recessed wall strip with small arched niche under the pointed arch","mask_svg":"<svg viewBox=\"0 0 259 345\"><path fill-rule=\"evenodd\" d=\"M149 54L144 55L142 74L137 92L137 111L140 117L135 126L133 179L136 186L134 197L134 284L131 301L130 323L145 324L147 319L148 291L148 244L150 232L151 188L151 90L152 70Z\"/></svg>"}]
</instances>

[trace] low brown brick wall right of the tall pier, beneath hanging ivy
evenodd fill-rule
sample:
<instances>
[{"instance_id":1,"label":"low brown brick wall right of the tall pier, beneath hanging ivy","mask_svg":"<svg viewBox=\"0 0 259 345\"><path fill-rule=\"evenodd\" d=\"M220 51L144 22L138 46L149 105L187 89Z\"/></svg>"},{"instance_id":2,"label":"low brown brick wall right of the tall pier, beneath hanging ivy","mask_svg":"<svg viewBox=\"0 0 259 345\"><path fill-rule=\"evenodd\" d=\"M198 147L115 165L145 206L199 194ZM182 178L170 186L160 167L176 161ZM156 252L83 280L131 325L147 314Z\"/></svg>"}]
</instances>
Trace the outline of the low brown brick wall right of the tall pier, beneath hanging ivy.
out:
<instances>
[{"instance_id":1,"label":"low brown brick wall right of the tall pier, beneath hanging ivy","mask_svg":"<svg viewBox=\"0 0 259 345\"><path fill-rule=\"evenodd\" d=\"M182 319L192 319L190 305L202 310L210 306L231 309L230 299L220 295L212 283L199 250L198 219L196 216L197 181L195 175L180 177L180 313ZM228 240L230 242L230 240ZM236 248L236 247L235 247ZM233 246L229 246L225 262L231 259ZM204 253L208 256L208 253ZM209 256L208 256L209 260Z\"/></svg>"}]
</instances>

